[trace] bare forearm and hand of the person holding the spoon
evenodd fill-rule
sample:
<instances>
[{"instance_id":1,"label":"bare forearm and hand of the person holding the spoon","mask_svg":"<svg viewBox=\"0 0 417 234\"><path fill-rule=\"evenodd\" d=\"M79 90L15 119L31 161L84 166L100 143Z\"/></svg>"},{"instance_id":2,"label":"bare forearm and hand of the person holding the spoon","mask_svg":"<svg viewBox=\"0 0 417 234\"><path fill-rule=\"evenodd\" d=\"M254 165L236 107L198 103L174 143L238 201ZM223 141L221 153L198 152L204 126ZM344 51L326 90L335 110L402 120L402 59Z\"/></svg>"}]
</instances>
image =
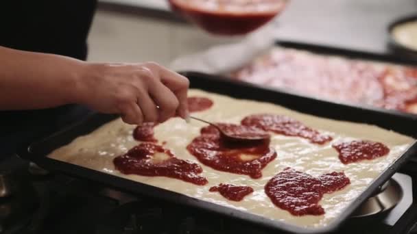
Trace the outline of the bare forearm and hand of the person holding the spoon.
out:
<instances>
[{"instance_id":1,"label":"bare forearm and hand of the person holding the spoon","mask_svg":"<svg viewBox=\"0 0 417 234\"><path fill-rule=\"evenodd\" d=\"M78 103L130 124L187 118L186 77L153 62L88 63L0 47L0 110Z\"/></svg>"}]
</instances>

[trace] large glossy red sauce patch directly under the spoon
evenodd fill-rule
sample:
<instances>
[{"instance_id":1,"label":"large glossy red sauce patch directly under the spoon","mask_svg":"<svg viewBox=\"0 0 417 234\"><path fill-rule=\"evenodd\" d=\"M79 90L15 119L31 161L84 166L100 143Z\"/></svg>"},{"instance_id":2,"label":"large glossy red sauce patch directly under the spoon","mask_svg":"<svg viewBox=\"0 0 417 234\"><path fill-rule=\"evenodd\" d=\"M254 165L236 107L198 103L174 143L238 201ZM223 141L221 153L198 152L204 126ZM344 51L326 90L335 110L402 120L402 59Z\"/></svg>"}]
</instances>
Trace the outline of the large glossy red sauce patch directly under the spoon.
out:
<instances>
[{"instance_id":1,"label":"large glossy red sauce patch directly under the spoon","mask_svg":"<svg viewBox=\"0 0 417 234\"><path fill-rule=\"evenodd\" d=\"M239 125L217 125L233 129L239 128ZM201 135L194 138L187 149L202 164L215 170L247 174L257 179L262 177L261 170L276 158L276 152L270 147L269 138L248 144L248 142L222 140L219 131L213 126L204 127L200 132ZM250 155L250 158L243 159L242 155Z\"/></svg>"}]
</instances>

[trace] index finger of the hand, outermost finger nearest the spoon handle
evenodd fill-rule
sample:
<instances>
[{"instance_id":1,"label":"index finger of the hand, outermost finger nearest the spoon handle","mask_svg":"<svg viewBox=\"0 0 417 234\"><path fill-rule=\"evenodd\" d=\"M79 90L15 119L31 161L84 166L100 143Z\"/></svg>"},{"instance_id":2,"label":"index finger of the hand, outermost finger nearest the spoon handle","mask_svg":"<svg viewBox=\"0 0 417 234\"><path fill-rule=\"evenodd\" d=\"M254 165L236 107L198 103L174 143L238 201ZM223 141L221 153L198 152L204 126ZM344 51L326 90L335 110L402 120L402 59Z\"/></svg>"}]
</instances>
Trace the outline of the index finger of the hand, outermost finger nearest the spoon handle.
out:
<instances>
[{"instance_id":1,"label":"index finger of the hand, outermost finger nearest the spoon handle","mask_svg":"<svg viewBox=\"0 0 417 234\"><path fill-rule=\"evenodd\" d=\"M158 66L160 81L169 88L178 99L179 105L176 112L181 118L188 118L187 92L189 80L178 73L175 73L163 66Z\"/></svg>"}]
</instances>

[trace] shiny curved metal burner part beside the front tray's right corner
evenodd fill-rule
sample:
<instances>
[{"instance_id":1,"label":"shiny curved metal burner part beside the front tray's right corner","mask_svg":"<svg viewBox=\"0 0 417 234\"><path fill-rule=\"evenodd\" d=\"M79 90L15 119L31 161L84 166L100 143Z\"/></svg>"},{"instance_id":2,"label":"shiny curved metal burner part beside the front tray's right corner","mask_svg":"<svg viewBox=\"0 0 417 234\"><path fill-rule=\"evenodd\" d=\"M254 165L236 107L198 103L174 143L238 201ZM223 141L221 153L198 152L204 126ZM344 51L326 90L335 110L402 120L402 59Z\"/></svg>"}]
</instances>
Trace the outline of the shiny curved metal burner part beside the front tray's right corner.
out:
<instances>
[{"instance_id":1,"label":"shiny curved metal burner part beside the front tray's right corner","mask_svg":"<svg viewBox=\"0 0 417 234\"><path fill-rule=\"evenodd\" d=\"M355 211L353 218L376 215L392 209L403 198L403 190L397 181L390 179L377 193Z\"/></svg>"}]
</instances>

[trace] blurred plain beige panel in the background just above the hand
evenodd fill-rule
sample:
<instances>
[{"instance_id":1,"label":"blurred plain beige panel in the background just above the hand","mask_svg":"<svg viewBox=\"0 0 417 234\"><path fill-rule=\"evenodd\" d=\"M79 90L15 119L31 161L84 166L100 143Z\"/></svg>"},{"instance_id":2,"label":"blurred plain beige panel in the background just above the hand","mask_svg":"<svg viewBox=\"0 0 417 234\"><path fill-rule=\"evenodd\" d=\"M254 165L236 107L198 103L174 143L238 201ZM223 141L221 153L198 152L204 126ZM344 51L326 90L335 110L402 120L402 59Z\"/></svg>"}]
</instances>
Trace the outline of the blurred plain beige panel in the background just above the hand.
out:
<instances>
[{"instance_id":1,"label":"blurred plain beige panel in the background just above the hand","mask_svg":"<svg viewBox=\"0 0 417 234\"><path fill-rule=\"evenodd\" d=\"M236 39L210 36L184 23L99 10L88 39L88 60L154 61L167 66L180 55L233 40Z\"/></svg>"}]
</instances>

